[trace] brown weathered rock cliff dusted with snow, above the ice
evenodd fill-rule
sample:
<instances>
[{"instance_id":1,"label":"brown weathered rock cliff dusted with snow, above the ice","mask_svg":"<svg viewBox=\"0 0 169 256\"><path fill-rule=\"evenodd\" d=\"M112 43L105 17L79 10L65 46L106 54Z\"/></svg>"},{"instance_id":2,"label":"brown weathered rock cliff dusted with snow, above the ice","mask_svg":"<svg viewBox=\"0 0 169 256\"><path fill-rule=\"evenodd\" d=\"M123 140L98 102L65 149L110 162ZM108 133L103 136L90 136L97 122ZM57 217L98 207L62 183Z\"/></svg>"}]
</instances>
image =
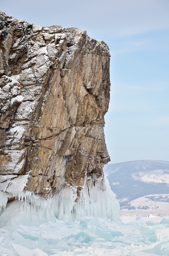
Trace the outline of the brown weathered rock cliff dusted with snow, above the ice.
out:
<instances>
[{"instance_id":1,"label":"brown weathered rock cliff dusted with snow, above the ice","mask_svg":"<svg viewBox=\"0 0 169 256\"><path fill-rule=\"evenodd\" d=\"M107 44L3 12L0 29L0 189L48 198L67 186L79 201L109 161Z\"/></svg>"}]
</instances>

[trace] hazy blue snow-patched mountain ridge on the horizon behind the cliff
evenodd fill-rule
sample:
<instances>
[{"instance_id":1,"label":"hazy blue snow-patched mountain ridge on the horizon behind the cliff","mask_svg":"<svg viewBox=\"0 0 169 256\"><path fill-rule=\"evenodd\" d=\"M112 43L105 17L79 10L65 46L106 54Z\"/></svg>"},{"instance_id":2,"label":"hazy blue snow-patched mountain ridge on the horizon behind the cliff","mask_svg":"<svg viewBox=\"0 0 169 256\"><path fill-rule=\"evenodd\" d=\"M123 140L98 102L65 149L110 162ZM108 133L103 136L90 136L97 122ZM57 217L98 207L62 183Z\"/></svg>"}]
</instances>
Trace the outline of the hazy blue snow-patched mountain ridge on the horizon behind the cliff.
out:
<instances>
[{"instance_id":1,"label":"hazy blue snow-patched mountain ridge on the horizon behind the cliff","mask_svg":"<svg viewBox=\"0 0 169 256\"><path fill-rule=\"evenodd\" d=\"M129 209L129 202L138 197L169 194L168 161L136 160L107 164L104 172L121 209Z\"/></svg>"}]
</instances>

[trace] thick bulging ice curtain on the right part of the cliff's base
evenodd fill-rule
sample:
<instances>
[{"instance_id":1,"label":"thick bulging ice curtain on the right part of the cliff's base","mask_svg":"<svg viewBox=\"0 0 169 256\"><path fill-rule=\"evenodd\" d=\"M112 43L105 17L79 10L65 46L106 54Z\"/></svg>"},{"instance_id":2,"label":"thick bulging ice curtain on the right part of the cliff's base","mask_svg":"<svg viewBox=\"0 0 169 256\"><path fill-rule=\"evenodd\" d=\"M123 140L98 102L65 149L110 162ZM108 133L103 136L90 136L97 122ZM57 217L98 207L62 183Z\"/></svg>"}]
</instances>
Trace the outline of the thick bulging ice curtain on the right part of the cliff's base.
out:
<instances>
[{"instance_id":1,"label":"thick bulging ice curtain on the right part of the cliff's base","mask_svg":"<svg viewBox=\"0 0 169 256\"><path fill-rule=\"evenodd\" d=\"M95 185L91 179L86 180L81 198L78 202L76 199L75 188L68 184L55 194L51 202L56 218L75 221L83 216L98 216L120 220L120 206L106 177L97 180Z\"/></svg>"}]
</instances>

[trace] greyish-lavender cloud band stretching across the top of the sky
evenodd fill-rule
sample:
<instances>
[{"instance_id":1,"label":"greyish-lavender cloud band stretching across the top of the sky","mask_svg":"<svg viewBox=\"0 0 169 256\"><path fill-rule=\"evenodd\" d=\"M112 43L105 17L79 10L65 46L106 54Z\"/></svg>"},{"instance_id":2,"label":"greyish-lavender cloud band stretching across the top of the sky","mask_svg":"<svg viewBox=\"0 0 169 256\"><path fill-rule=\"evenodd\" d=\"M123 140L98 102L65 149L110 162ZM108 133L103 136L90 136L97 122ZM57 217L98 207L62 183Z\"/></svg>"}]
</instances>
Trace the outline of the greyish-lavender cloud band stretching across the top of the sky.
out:
<instances>
[{"instance_id":1,"label":"greyish-lavender cloud band stretching across the top of the sky","mask_svg":"<svg viewBox=\"0 0 169 256\"><path fill-rule=\"evenodd\" d=\"M29 4L1 0L1 11L36 25L87 29L91 36L95 33L120 37L169 28L168 0L65 0L64 8L56 0L50 4L45 0L29 0Z\"/></svg>"}]
</instances>

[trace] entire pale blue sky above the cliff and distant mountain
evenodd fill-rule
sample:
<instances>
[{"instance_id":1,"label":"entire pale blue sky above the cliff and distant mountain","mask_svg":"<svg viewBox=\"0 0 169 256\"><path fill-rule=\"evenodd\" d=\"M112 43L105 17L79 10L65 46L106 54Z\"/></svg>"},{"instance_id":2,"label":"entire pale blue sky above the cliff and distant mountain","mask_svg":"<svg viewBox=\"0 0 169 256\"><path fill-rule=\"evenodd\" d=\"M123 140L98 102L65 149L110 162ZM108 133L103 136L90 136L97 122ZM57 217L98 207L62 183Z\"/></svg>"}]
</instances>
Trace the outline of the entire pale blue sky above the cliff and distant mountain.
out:
<instances>
[{"instance_id":1,"label":"entire pale blue sky above the cliff and distant mountain","mask_svg":"<svg viewBox=\"0 0 169 256\"><path fill-rule=\"evenodd\" d=\"M169 161L169 0L1 0L0 10L104 40L111 52L105 117L111 163Z\"/></svg>"}]
</instances>

